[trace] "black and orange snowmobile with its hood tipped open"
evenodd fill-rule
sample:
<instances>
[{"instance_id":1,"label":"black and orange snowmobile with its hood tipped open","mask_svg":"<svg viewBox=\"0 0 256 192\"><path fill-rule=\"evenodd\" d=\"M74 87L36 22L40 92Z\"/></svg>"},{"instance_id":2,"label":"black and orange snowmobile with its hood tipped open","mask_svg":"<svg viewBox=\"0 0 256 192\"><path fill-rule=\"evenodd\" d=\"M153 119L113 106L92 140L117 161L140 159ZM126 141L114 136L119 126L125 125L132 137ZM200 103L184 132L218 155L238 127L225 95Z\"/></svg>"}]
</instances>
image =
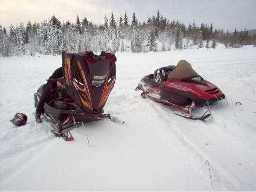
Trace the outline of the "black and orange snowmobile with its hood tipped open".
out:
<instances>
[{"instance_id":1,"label":"black and orange snowmobile with its hood tipped open","mask_svg":"<svg viewBox=\"0 0 256 192\"><path fill-rule=\"evenodd\" d=\"M83 53L62 52L63 76L55 81L56 86L47 95L43 116L53 126L52 133L71 141L70 130L77 124L111 118L103 114L103 107L113 89L116 79L114 53L92 51ZM37 107L42 95L41 85L34 94Z\"/></svg>"}]
</instances>

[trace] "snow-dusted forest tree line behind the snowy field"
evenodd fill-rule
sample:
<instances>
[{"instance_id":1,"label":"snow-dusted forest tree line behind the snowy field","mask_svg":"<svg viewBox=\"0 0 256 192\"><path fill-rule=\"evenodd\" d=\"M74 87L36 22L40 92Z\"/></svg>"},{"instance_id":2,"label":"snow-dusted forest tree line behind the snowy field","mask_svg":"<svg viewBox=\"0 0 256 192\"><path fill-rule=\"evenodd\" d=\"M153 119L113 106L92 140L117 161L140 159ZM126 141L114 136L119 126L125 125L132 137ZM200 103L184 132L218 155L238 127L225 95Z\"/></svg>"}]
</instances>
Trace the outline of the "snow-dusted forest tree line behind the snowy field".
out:
<instances>
[{"instance_id":1,"label":"snow-dusted forest tree line behind the snowy field","mask_svg":"<svg viewBox=\"0 0 256 192\"><path fill-rule=\"evenodd\" d=\"M204 43L205 42L205 43ZM202 23L196 26L195 21L188 26L178 20L171 22L160 14L149 17L147 21L138 22L133 13L131 21L125 12L117 19L111 12L100 25L80 19L76 23L60 22L54 15L41 23L28 21L26 27L10 25L9 29L0 25L0 56L22 56L36 52L40 54L58 55L62 50L67 52L83 52L102 50L147 52L171 49L215 48L216 42L227 48L239 48L242 45L256 45L256 34L248 31L224 32L213 29L213 24Z\"/></svg>"}]
</instances>

